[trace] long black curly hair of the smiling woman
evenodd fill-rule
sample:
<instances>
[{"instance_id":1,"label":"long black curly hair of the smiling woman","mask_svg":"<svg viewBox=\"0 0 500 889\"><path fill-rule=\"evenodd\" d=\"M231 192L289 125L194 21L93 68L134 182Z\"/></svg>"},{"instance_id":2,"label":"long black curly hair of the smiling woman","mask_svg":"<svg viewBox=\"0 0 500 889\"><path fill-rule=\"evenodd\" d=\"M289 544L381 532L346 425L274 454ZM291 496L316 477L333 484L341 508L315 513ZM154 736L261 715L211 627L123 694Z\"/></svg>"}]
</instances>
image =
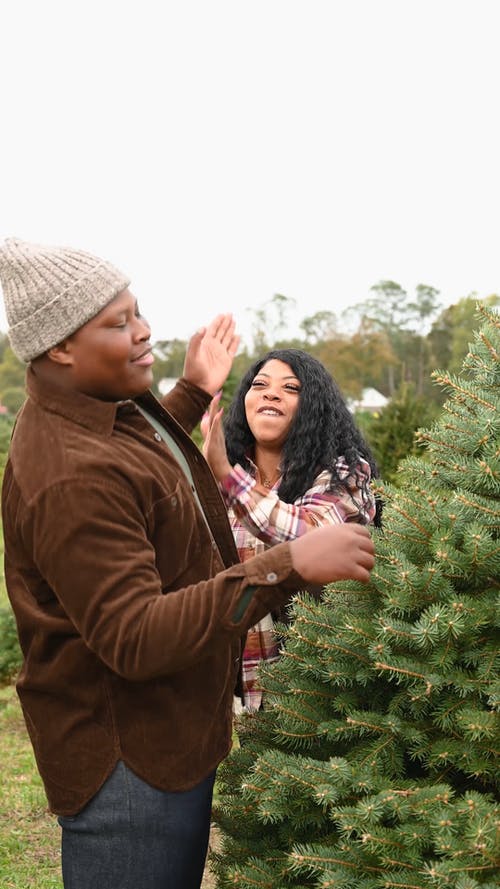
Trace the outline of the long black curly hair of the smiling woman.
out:
<instances>
[{"instance_id":1,"label":"long black curly hair of the smiling woman","mask_svg":"<svg viewBox=\"0 0 500 889\"><path fill-rule=\"evenodd\" d=\"M369 464L372 477L378 475L374 457L356 426L347 404L326 368L302 349L272 349L255 361L242 377L227 408L224 434L229 462L249 468L254 437L247 423L245 395L254 377L267 361L283 361L301 383L299 408L283 447L283 475L278 496L287 503L301 497L324 469L332 474L332 490L345 487L338 476L337 459L343 456L350 474L357 475L359 458ZM363 490L362 479L358 482ZM380 524L381 503L377 502L375 524Z\"/></svg>"}]
</instances>

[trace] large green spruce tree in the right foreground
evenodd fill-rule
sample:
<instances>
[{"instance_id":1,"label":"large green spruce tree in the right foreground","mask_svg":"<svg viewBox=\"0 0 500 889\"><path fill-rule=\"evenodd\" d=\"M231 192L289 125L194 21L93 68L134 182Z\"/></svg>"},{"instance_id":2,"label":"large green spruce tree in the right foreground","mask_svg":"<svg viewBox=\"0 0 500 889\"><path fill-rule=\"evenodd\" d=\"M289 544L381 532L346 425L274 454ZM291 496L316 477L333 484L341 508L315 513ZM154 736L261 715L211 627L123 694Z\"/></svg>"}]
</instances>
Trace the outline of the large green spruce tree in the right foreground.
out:
<instances>
[{"instance_id":1,"label":"large green spruce tree in the right foreground","mask_svg":"<svg viewBox=\"0 0 500 889\"><path fill-rule=\"evenodd\" d=\"M383 486L368 586L293 603L219 771L219 887L499 885L500 318Z\"/></svg>"}]
</instances>

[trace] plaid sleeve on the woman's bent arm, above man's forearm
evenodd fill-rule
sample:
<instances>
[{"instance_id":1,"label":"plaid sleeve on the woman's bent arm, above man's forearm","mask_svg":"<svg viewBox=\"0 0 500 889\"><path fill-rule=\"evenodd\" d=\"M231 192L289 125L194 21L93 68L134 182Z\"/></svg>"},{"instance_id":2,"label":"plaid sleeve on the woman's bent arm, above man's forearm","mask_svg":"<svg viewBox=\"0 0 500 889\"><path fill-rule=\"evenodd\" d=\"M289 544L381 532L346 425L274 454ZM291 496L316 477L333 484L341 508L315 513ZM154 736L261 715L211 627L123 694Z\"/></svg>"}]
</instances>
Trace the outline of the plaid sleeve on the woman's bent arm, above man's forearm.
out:
<instances>
[{"instance_id":1,"label":"plaid sleeve on the woman's bent arm, above man's forearm","mask_svg":"<svg viewBox=\"0 0 500 889\"><path fill-rule=\"evenodd\" d=\"M223 480L221 490L239 522L268 546L294 540L319 525L368 524L375 515L375 499L368 487L368 463L360 460L354 474L349 474L342 458L337 466L345 487L328 491L331 473L325 470L295 503L278 498L279 480L268 490L239 464Z\"/></svg>"}]
</instances>

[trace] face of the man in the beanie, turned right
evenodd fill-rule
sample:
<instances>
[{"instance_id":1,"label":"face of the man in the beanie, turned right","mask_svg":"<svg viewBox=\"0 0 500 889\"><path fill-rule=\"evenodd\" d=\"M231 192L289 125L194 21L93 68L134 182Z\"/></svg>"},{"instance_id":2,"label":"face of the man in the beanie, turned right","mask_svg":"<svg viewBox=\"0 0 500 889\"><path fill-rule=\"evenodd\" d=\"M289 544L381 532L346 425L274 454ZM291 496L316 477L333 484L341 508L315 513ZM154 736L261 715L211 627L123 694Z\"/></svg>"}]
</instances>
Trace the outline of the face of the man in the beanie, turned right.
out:
<instances>
[{"instance_id":1,"label":"face of the man in the beanie, turned right","mask_svg":"<svg viewBox=\"0 0 500 889\"><path fill-rule=\"evenodd\" d=\"M145 392L153 382L150 335L135 297L122 290L65 340L65 364L73 388L103 401Z\"/></svg>"}]
</instances>

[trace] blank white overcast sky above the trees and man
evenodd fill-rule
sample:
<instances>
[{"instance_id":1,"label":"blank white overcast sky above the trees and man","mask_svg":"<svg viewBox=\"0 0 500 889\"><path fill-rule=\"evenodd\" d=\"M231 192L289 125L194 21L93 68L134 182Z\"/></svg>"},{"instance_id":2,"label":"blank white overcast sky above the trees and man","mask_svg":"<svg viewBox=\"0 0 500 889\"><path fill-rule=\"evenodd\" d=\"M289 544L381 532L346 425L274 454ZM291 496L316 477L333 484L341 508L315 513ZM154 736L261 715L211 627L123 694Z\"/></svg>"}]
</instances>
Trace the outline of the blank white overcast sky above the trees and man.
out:
<instances>
[{"instance_id":1,"label":"blank white overcast sky above the trees and man","mask_svg":"<svg viewBox=\"0 0 500 889\"><path fill-rule=\"evenodd\" d=\"M153 341L220 311L246 339L275 293L292 324L339 314L383 278L444 305L499 293L498 18L496 0L0 0L0 240L114 262Z\"/></svg>"}]
</instances>

